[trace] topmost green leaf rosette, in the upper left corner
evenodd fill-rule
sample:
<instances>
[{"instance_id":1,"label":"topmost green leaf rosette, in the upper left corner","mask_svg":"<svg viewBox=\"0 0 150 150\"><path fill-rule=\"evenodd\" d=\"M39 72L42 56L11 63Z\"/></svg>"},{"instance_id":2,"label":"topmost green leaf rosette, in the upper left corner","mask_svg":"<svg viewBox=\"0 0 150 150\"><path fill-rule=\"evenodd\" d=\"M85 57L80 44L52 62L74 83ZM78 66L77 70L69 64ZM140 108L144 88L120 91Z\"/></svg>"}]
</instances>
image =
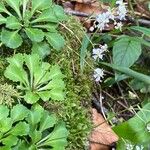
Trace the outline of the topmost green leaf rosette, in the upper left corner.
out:
<instances>
[{"instance_id":1,"label":"topmost green leaf rosette, in the upper left corner","mask_svg":"<svg viewBox=\"0 0 150 150\"><path fill-rule=\"evenodd\" d=\"M15 49L27 37L32 45L46 42L60 50L64 46L64 38L57 27L65 20L63 8L52 0L3 0L0 3L1 41Z\"/></svg>"}]
</instances>

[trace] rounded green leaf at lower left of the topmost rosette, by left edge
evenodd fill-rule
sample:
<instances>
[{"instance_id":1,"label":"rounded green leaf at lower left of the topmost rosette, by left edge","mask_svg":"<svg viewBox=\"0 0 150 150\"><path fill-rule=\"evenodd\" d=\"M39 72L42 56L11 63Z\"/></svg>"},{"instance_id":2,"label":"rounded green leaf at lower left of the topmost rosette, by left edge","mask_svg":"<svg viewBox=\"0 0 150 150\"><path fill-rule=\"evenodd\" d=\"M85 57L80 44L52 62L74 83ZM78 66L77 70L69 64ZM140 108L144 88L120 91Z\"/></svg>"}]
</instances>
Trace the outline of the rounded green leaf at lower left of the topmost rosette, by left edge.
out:
<instances>
[{"instance_id":1,"label":"rounded green leaf at lower left of the topmost rosette, by left edge","mask_svg":"<svg viewBox=\"0 0 150 150\"><path fill-rule=\"evenodd\" d=\"M7 31L7 30L2 30L1 41L3 44L13 49L21 46L23 42L21 36L18 34L18 31Z\"/></svg>"}]
</instances>

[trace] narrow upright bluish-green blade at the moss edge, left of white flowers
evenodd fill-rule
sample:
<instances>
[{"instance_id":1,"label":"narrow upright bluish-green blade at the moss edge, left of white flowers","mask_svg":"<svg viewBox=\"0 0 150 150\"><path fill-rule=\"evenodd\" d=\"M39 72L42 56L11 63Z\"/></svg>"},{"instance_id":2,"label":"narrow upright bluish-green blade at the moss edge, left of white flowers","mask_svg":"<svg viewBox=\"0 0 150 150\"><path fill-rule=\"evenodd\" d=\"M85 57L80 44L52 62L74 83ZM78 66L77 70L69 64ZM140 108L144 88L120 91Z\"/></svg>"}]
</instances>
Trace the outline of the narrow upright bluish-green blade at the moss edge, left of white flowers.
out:
<instances>
[{"instance_id":1,"label":"narrow upright bluish-green blade at the moss edge, left of white flowers","mask_svg":"<svg viewBox=\"0 0 150 150\"><path fill-rule=\"evenodd\" d=\"M81 72L83 72L84 64L85 64L85 57L87 54L87 47L89 45L89 37L87 35L84 35L83 40L82 40L82 46L80 49L80 68Z\"/></svg>"}]
</instances>

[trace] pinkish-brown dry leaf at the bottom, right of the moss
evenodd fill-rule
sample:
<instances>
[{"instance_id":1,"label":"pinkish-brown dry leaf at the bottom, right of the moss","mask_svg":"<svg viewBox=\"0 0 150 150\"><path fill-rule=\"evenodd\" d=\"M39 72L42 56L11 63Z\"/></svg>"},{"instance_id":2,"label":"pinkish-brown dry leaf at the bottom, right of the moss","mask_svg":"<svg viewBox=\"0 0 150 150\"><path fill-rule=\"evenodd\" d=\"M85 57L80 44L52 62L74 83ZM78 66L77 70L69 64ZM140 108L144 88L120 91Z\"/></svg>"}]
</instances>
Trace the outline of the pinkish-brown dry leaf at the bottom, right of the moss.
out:
<instances>
[{"instance_id":1,"label":"pinkish-brown dry leaf at the bottom, right of the moss","mask_svg":"<svg viewBox=\"0 0 150 150\"><path fill-rule=\"evenodd\" d=\"M106 147L103 145L111 145L118 141L118 136L114 133L114 131L96 109L92 109L92 119L95 128L93 129L89 140L91 142L90 147L95 147L95 149L91 150L105 150ZM98 143L100 143L99 147Z\"/></svg>"}]
</instances>

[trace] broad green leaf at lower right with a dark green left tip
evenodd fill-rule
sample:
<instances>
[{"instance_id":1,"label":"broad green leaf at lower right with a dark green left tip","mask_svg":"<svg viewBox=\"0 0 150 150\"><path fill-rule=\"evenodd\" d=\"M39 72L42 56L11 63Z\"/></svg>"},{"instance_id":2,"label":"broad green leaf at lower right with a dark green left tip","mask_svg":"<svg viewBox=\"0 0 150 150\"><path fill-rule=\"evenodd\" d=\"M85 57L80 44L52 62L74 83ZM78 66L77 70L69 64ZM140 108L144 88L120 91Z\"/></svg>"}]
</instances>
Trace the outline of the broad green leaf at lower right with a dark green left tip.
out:
<instances>
[{"instance_id":1,"label":"broad green leaf at lower right with a dark green left tip","mask_svg":"<svg viewBox=\"0 0 150 150\"><path fill-rule=\"evenodd\" d=\"M147 128L147 125L150 122L149 108L150 103L141 108L140 111L135 114L135 117L114 127L114 131L120 138L128 139L135 144L149 142L150 134Z\"/></svg>"}]
</instances>

